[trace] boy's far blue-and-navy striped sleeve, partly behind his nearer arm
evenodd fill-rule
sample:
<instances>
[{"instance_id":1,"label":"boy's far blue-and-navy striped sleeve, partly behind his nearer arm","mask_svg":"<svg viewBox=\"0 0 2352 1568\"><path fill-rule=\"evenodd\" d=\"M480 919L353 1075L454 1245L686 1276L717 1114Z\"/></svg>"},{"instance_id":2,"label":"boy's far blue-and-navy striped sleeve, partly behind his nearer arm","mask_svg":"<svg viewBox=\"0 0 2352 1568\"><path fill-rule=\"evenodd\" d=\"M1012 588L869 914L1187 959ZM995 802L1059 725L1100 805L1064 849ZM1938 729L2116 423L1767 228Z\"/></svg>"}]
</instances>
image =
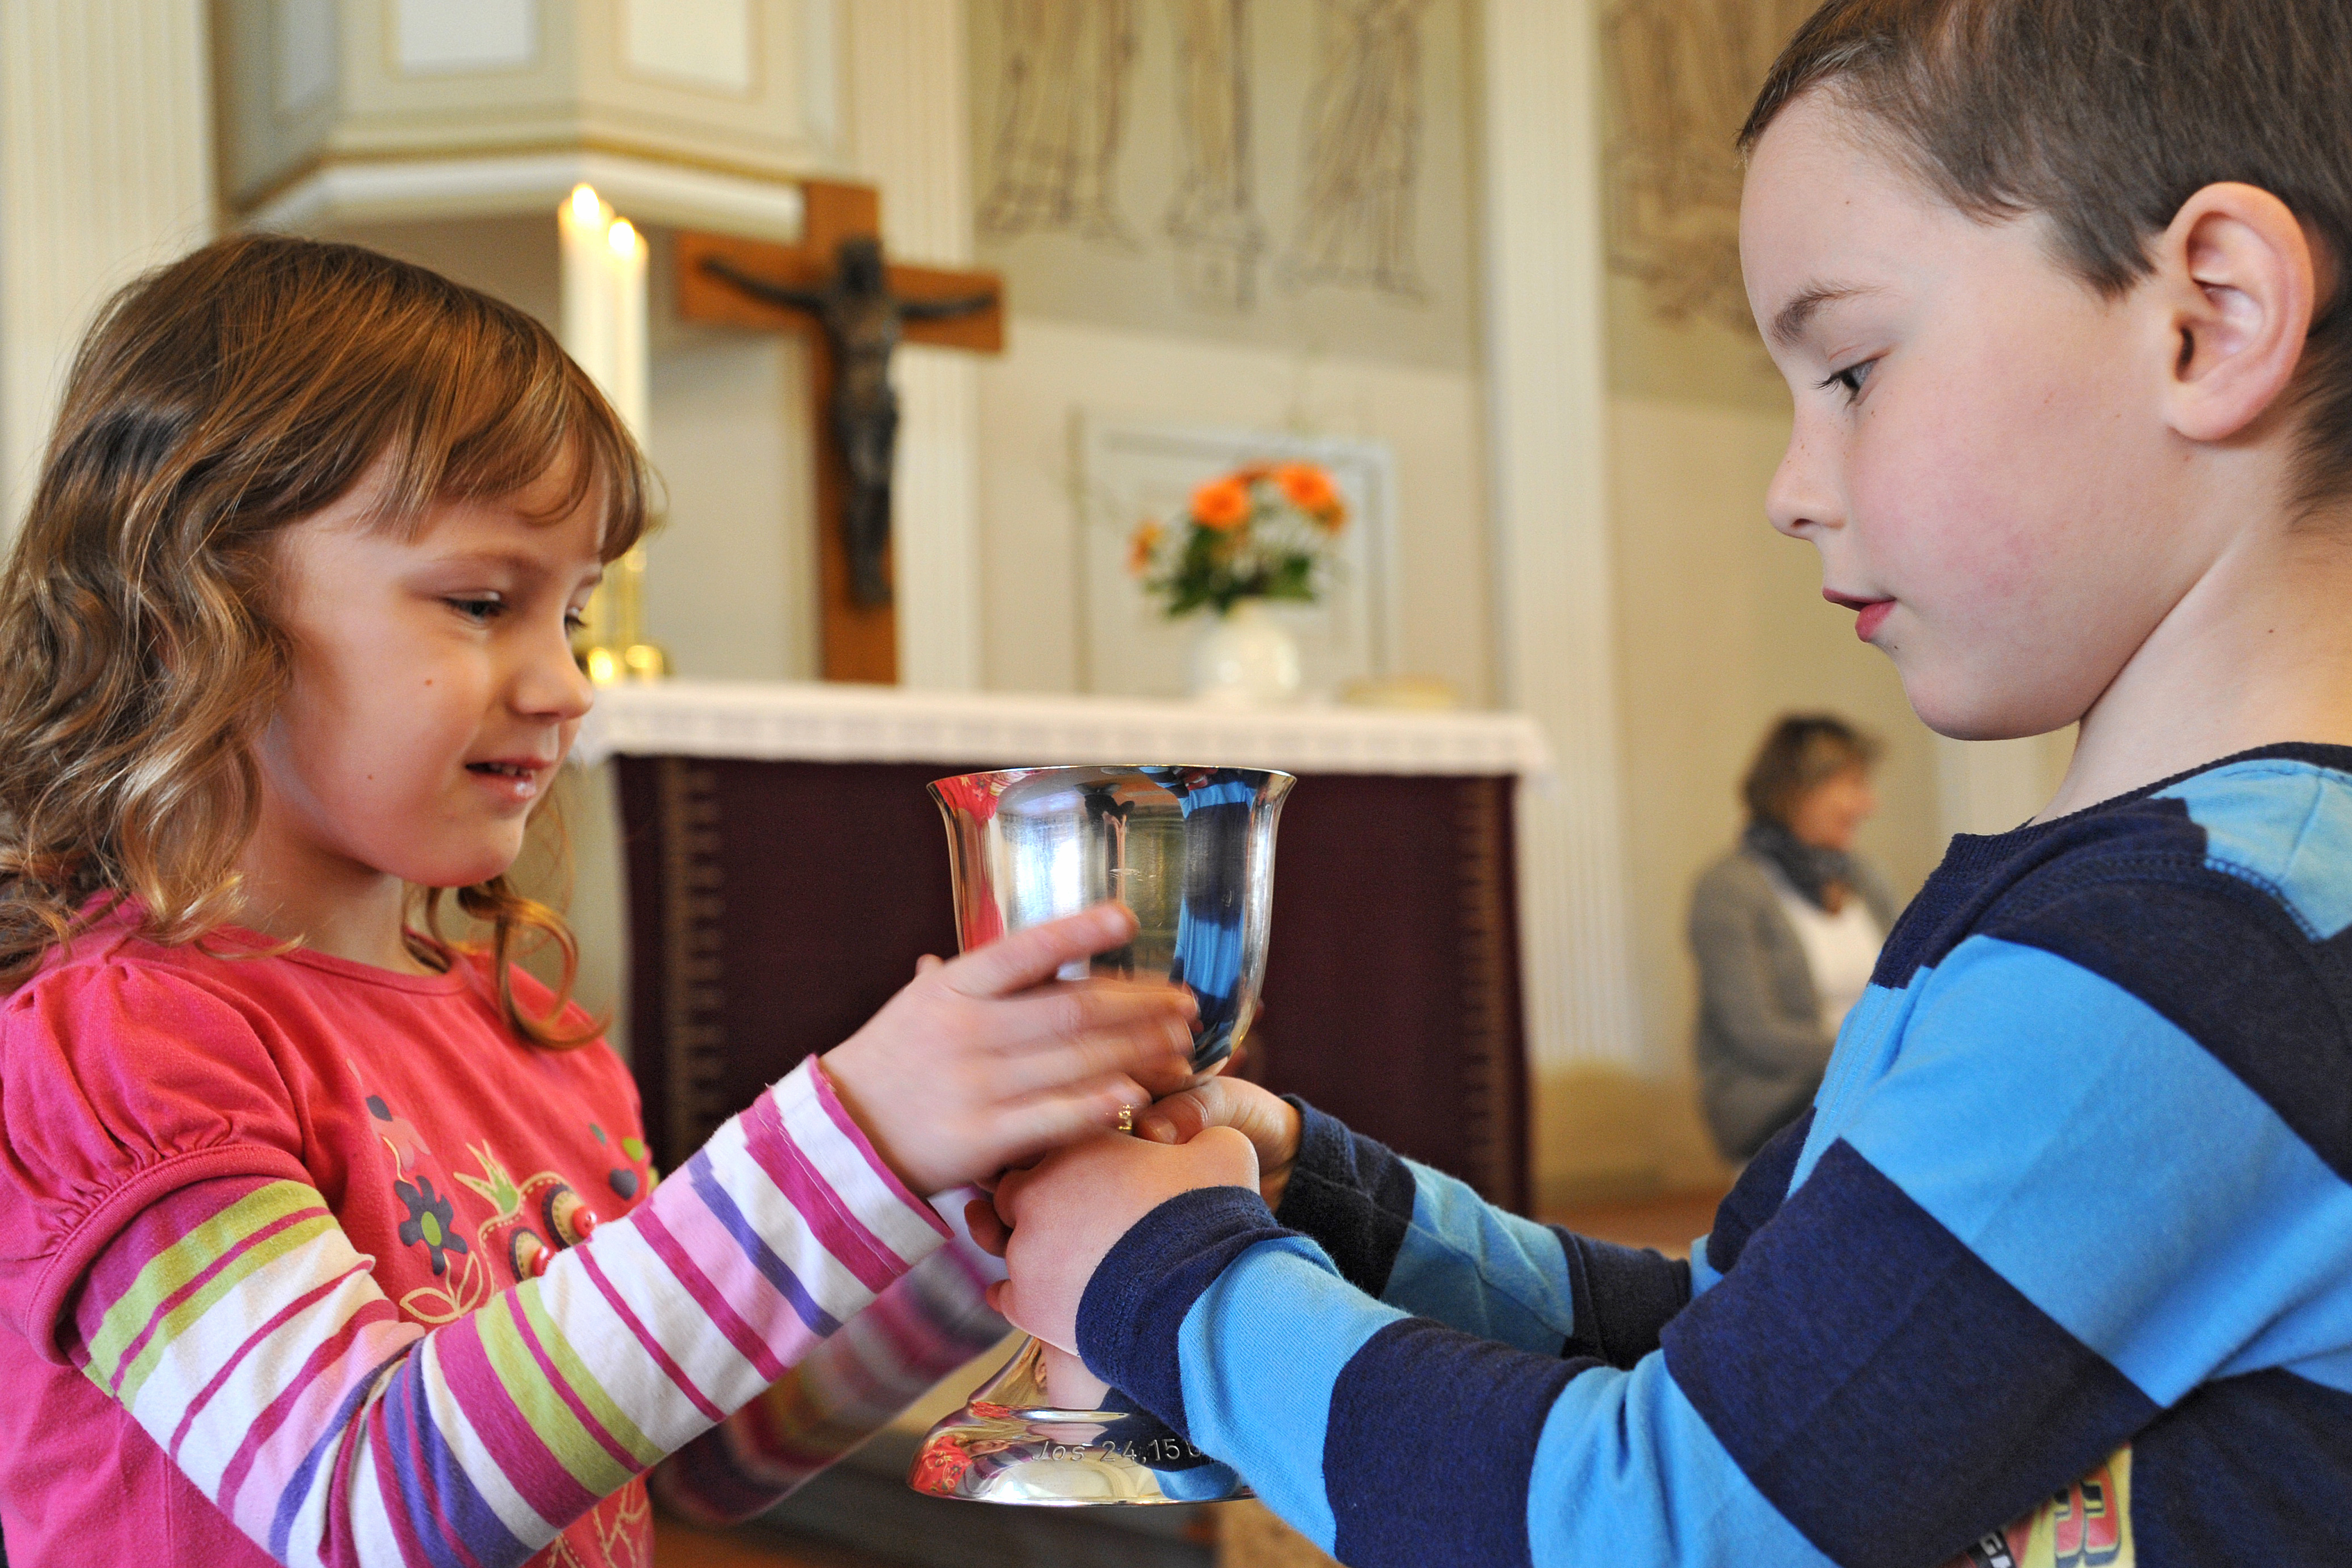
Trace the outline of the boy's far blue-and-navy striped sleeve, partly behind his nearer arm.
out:
<instances>
[{"instance_id":1,"label":"boy's far blue-and-navy striped sleeve, partly behind his nearer arm","mask_svg":"<svg viewBox=\"0 0 2352 1568\"><path fill-rule=\"evenodd\" d=\"M1632 1366L1691 1298L1691 1267L1496 1208L1465 1182L1291 1098L1298 1164L1282 1225L1414 1316L1529 1352Z\"/></svg>"}]
</instances>

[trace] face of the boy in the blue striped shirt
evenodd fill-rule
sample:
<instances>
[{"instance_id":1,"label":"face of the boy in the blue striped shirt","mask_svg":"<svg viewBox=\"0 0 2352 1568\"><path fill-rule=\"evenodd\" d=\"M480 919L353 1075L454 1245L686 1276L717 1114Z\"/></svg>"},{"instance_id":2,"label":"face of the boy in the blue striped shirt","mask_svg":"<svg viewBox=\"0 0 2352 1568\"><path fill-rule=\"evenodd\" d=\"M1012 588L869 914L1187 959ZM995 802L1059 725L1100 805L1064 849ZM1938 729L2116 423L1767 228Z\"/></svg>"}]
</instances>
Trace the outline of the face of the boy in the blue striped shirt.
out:
<instances>
[{"instance_id":1,"label":"face of the boy in the blue striped shirt","mask_svg":"<svg viewBox=\"0 0 2352 1568\"><path fill-rule=\"evenodd\" d=\"M1748 172L1748 299L1797 400L1766 510L1933 729L2058 729L2211 559L2161 527L2169 329L2063 273L2046 219L1971 219L1849 127L1806 94Z\"/></svg>"}]
</instances>

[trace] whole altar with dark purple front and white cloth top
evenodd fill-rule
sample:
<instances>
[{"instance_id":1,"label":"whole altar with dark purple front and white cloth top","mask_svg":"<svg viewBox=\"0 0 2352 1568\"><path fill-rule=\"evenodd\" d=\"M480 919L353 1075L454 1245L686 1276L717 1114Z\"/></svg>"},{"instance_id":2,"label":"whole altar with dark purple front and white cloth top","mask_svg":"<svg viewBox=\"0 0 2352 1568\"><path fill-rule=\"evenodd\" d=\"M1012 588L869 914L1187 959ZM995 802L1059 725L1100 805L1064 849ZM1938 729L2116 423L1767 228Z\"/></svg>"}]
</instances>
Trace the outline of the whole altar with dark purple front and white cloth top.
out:
<instances>
[{"instance_id":1,"label":"whole altar with dark purple front and white cloth top","mask_svg":"<svg viewBox=\"0 0 2352 1568\"><path fill-rule=\"evenodd\" d=\"M1298 773L1244 1072L1524 1208L1519 715L1228 712L882 686L614 686L581 736L619 776L630 1060L666 1166L955 950L924 785L983 766Z\"/></svg>"}]
</instances>

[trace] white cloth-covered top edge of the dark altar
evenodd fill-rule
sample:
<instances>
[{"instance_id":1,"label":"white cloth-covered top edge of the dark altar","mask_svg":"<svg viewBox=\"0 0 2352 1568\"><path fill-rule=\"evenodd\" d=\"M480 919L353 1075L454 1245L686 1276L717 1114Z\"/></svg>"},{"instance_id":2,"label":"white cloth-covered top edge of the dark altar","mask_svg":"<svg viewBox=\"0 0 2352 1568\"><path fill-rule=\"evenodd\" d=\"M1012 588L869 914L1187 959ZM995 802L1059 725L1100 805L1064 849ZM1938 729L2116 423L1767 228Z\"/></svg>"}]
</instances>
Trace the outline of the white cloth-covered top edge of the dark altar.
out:
<instances>
[{"instance_id":1,"label":"white cloth-covered top edge of the dark altar","mask_svg":"<svg viewBox=\"0 0 2352 1568\"><path fill-rule=\"evenodd\" d=\"M604 686L574 755L753 762L1190 762L1294 773L1550 771L1519 712L1232 710L1145 698L804 682Z\"/></svg>"}]
</instances>

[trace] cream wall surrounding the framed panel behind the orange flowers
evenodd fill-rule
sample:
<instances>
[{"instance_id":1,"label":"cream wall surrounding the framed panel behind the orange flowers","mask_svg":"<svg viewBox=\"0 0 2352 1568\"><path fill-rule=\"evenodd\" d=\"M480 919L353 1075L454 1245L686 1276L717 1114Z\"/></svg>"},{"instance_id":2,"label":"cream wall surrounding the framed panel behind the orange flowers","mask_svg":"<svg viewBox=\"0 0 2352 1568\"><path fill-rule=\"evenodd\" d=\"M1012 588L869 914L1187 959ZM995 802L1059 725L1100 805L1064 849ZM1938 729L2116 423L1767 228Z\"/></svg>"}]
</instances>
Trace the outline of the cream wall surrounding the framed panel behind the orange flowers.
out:
<instances>
[{"instance_id":1,"label":"cream wall surrounding the framed panel behind the orange flowers","mask_svg":"<svg viewBox=\"0 0 2352 1568\"><path fill-rule=\"evenodd\" d=\"M1463 371L1296 357L1016 315L981 367L983 684L1070 691L1080 670L1077 416L1376 437L1397 454L1397 668L1494 691L1484 451Z\"/></svg>"}]
</instances>

